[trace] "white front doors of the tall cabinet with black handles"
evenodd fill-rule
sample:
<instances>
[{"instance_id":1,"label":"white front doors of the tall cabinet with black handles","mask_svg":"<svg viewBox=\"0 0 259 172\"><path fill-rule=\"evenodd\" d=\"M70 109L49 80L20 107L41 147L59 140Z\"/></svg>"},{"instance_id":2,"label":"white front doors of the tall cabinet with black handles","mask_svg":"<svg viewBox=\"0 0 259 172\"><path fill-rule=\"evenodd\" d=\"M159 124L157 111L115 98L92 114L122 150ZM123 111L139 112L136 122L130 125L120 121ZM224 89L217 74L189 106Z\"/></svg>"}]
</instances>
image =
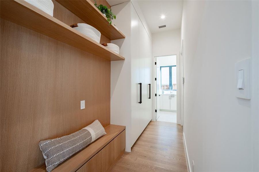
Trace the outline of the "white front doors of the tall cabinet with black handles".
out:
<instances>
[{"instance_id":1,"label":"white front doors of the tall cabinet with black handles","mask_svg":"<svg viewBox=\"0 0 259 172\"><path fill-rule=\"evenodd\" d=\"M133 6L131 8L131 59L131 146L133 146L152 119L152 42Z\"/></svg>"}]
</instances>

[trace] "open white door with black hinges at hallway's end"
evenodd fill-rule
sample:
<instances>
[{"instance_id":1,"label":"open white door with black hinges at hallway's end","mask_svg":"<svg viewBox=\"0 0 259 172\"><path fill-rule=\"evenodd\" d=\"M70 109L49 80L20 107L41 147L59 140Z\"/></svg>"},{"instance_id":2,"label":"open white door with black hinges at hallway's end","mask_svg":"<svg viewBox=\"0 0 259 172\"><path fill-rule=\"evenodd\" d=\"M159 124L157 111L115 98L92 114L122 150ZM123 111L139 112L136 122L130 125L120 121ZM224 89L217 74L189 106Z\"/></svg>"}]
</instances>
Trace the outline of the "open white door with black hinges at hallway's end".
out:
<instances>
[{"instance_id":1,"label":"open white door with black hinges at hallway's end","mask_svg":"<svg viewBox=\"0 0 259 172\"><path fill-rule=\"evenodd\" d=\"M159 93L160 93L160 65L158 64L158 60L157 60L157 57L156 57L156 59L155 59L155 61L156 61L156 65L155 65L155 77L156 77L156 91L155 91L155 93L156 93L156 114L155 114L155 116L156 116L156 120L158 119L158 117L159 117L159 112L160 112L160 101L159 101L159 98L160 98L160 95L159 95Z\"/></svg>"}]
</instances>

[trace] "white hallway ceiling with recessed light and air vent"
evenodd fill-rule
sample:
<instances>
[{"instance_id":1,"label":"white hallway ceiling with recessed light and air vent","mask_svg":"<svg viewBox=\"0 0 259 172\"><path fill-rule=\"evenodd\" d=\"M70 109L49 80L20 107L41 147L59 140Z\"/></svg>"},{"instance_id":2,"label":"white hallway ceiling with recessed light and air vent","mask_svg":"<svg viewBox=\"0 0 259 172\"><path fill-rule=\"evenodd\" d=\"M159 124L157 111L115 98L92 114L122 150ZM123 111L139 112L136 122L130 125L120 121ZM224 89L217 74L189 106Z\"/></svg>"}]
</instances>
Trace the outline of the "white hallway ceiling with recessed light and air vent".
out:
<instances>
[{"instance_id":1,"label":"white hallway ceiling with recessed light and air vent","mask_svg":"<svg viewBox=\"0 0 259 172\"><path fill-rule=\"evenodd\" d=\"M138 0L137 2L152 33L181 28L182 0ZM161 19L161 15L165 18ZM159 29L158 26L162 25L166 27Z\"/></svg>"}]
</instances>

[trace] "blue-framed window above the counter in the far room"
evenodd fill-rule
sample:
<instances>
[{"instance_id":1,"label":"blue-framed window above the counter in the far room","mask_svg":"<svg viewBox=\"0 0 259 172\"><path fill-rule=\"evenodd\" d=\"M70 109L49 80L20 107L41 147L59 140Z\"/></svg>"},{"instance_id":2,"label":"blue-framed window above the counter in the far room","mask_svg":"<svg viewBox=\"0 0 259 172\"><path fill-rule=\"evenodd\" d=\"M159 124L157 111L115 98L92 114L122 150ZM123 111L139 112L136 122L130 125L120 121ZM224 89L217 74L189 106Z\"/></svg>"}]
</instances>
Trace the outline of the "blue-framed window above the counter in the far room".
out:
<instances>
[{"instance_id":1,"label":"blue-framed window above the counter in the far room","mask_svg":"<svg viewBox=\"0 0 259 172\"><path fill-rule=\"evenodd\" d=\"M160 66L161 90L176 90L176 65Z\"/></svg>"}]
</instances>

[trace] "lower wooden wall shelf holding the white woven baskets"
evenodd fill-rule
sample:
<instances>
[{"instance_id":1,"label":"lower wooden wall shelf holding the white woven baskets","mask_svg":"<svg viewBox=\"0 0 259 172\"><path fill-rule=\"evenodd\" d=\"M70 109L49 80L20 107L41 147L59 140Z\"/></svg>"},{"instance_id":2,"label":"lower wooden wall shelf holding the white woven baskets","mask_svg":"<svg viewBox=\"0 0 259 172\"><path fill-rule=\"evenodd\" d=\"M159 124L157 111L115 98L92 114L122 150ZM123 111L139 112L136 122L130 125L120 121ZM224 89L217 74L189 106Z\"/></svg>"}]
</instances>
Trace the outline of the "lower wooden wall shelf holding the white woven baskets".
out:
<instances>
[{"instance_id":1,"label":"lower wooden wall shelf holding the white woven baskets","mask_svg":"<svg viewBox=\"0 0 259 172\"><path fill-rule=\"evenodd\" d=\"M11 0L0 2L0 13L3 19L110 61L125 59L26 1Z\"/></svg>"}]
</instances>

